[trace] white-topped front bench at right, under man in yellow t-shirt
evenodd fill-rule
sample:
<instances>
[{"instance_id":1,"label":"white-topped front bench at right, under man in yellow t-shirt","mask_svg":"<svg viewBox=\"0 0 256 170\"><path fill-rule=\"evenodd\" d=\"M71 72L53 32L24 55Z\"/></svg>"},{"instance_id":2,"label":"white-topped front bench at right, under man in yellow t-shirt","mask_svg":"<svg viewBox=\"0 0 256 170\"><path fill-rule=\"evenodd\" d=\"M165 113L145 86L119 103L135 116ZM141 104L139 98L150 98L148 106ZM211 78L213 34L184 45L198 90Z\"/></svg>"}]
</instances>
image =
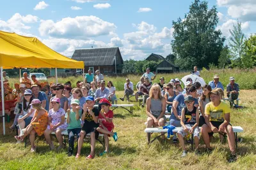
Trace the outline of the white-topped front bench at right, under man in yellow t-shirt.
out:
<instances>
[{"instance_id":1,"label":"white-topped front bench at right, under man in yellow t-shirt","mask_svg":"<svg viewBox=\"0 0 256 170\"><path fill-rule=\"evenodd\" d=\"M240 126L232 126L234 134L235 134L235 141L236 141L236 148L237 148L237 133L238 132L243 132L243 128ZM174 133L177 133L179 130L181 129L181 127L175 127L175 129L173 129ZM201 127L199 127L199 129L201 129ZM146 128L144 132L146 133L163 133L159 136L157 136L156 138L159 138L160 136L164 135L164 133L166 133L168 131L168 129L163 129L163 128L159 128L159 127L150 127L150 128ZM156 140L156 138L154 138L152 141L150 141L150 143L152 143L153 141ZM193 150L193 134L191 135L191 148Z\"/></svg>"}]
</instances>

